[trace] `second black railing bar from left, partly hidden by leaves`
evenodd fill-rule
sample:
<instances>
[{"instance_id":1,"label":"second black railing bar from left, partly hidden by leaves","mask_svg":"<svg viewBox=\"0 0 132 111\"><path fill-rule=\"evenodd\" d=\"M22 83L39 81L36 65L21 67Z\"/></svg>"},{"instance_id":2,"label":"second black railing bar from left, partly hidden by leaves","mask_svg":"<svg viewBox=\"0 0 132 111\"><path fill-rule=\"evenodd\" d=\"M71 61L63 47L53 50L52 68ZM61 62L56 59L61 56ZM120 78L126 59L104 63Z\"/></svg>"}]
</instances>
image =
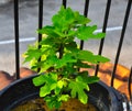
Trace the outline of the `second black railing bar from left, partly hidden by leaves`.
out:
<instances>
[{"instance_id":1,"label":"second black railing bar from left, partly hidden by leaves","mask_svg":"<svg viewBox=\"0 0 132 111\"><path fill-rule=\"evenodd\" d=\"M42 29L43 26L43 0L38 0L38 29ZM38 42L42 41L42 34L38 34ZM38 45L38 48L41 48L41 45ZM38 58L38 62L41 60L41 57ZM37 69L37 73L41 70L41 68Z\"/></svg>"}]
</instances>

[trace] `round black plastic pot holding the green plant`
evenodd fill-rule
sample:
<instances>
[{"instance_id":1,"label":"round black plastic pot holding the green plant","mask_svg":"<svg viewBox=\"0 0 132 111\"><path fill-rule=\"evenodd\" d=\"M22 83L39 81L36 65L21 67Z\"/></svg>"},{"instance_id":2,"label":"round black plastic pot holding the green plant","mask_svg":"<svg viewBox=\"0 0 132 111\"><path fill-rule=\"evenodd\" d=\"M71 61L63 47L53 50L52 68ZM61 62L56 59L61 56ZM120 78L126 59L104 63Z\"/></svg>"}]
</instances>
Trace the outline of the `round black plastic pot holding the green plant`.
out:
<instances>
[{"instance_id":1,"label":"round black plastic pot holding the green plant","mask_svg":"<svg viewBox=\"0 0 132 111\"><path fill-rule=\"evenodd\" d=\"M38 97L32 77L20 79L0 92L0 111L10 111L22 101ZM90 85L89 102L99 111L123 111L122 96L102 82Z\"/></svg>"}]
</instances>

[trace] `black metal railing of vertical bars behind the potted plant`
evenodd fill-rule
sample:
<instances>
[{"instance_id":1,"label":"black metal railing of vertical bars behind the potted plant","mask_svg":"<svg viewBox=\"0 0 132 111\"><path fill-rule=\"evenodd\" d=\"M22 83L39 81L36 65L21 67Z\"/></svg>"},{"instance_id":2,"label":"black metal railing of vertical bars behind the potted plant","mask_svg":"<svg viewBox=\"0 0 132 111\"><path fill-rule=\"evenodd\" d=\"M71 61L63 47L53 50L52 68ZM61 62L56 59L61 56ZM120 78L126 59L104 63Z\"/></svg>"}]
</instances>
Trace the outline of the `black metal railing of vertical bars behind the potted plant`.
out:
<instances>
[{"instance_id":1,"label":"black metal railing of vertical bars behind the potted plant","mask_svg":"<svg viewBox=\"0 0 132 111\"><path fill-rule=\"evenodd\" d=\"M63 0L62 1L62 4L65 5L65 8L67 7L67 1L68 0ZM103 25L102 25L102 32L105 32L105 33L106 33L107 26L108 26L111 1L112 0L107 0L106 12L105 12L105 18L103 18ZM43 25L43 2L44 2L44 0L38 0L38 29L41 29L42 25ZM127 30L129 16L130 16L132 0L128 0L127 2L128 2L128 5L127 5L127 10L125 10L125 15L124 15L124 19L123 19L121 36L120 36L120 41L119 41L119 45L118 45L118 49L117 49L113 70L112 70L112 74L111 74L111 87L114 87L113 82L114 82L114 77L116 77L117 65L119 63L120 52L122 49L122 44L123 44L124 34L125 34L125 30ZM84 15L85 16L88 16L89 5L90 5L90 0L85 0L85 5L84 5ZM16 77L16 79L20 78L20 76L19 76L19 74L20 74L19 32L20 32L20 30L19 30L19 0L14 0L15 71L16 71L15 77ZM42 35L38 34L38 41L41 41L41 38L42 38ZM103 43L105 43L105 38L102 38L100 41L100 46L99 46L99 52L98 52L99 55L102 54ZM84 48L84 41L80 42L80 48ZM95 75L98 74L98 70L99 70L99 65L97 65L97 67L96 67ZM128 80L128 86L129 86L128 90L129 90L130 99L132 100L131 82L132 82L132 67L131 67L131 71L130 71L130 76L129 76L129 80Z\"/></svg>"}]
</instances>

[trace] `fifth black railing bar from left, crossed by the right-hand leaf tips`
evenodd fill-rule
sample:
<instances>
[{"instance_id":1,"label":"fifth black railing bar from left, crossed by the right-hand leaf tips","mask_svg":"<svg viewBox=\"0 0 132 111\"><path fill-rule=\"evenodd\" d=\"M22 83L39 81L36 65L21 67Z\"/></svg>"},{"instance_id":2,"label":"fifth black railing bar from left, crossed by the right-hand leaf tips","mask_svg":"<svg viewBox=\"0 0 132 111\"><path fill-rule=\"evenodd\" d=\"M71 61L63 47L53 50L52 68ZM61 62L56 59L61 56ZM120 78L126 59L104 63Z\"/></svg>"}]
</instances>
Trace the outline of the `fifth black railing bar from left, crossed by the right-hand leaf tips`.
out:
<instances>
[{"instance_id":1,"label":"fifth black railing bar from left, crossed by the right-hand leaf tips","mask_svg":"<svg viewBox=\"0 0 132 111\"><path fill-rule=\"evenodd\" d=\"M109 12L110 12L110 7L111 7L111 0L107 1L107 7L106 7L106 13L105 13L105 20L103 20L103 26L102 26L102 32L106 33L106 29L107 29L107 24L108 24L108 18L109 18ZM99 55L101 55L102 53L102 48L103 48L103 43L105 43L105 38L101 38L100 41L100 46L99 46ZM99 65L97 65L96 67L96 71L95 75L97 76L99 70Z\"/></svg>"}]
</instances>

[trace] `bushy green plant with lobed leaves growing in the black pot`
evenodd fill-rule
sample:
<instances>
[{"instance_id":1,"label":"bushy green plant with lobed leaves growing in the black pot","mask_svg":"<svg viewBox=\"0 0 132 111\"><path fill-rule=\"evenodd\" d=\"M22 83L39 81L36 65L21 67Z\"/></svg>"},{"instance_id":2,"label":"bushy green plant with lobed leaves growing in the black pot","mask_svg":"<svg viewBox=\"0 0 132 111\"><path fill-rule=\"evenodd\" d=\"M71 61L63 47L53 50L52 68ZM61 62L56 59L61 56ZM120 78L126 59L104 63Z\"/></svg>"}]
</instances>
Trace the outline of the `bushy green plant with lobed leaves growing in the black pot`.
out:
<instances>
[{"instance_id":1,"label":"bushy green plant with lobed leaves growing in the black pot","mask_svg":"<svg viewBox=\"0 0 132 111\"><path fill-rule=\"evenodd\" d=\"M109 59L78 48L75 38L88 41L102 38L106 34L95 33L97 25L87 25L90 20L70 8L62 7L53 15L52 22L52 25L37 30L43 34L42 41L30 46L24 54L24 62L30 62L32 69L40 69L33 84L40 87L40 97L51 109L58 109L69 98L78 98L81 103L87 103L88 85L97 82L99 78L79 69L90 68L88 63L99 64Z\"/></svg>"}]
</instances>

